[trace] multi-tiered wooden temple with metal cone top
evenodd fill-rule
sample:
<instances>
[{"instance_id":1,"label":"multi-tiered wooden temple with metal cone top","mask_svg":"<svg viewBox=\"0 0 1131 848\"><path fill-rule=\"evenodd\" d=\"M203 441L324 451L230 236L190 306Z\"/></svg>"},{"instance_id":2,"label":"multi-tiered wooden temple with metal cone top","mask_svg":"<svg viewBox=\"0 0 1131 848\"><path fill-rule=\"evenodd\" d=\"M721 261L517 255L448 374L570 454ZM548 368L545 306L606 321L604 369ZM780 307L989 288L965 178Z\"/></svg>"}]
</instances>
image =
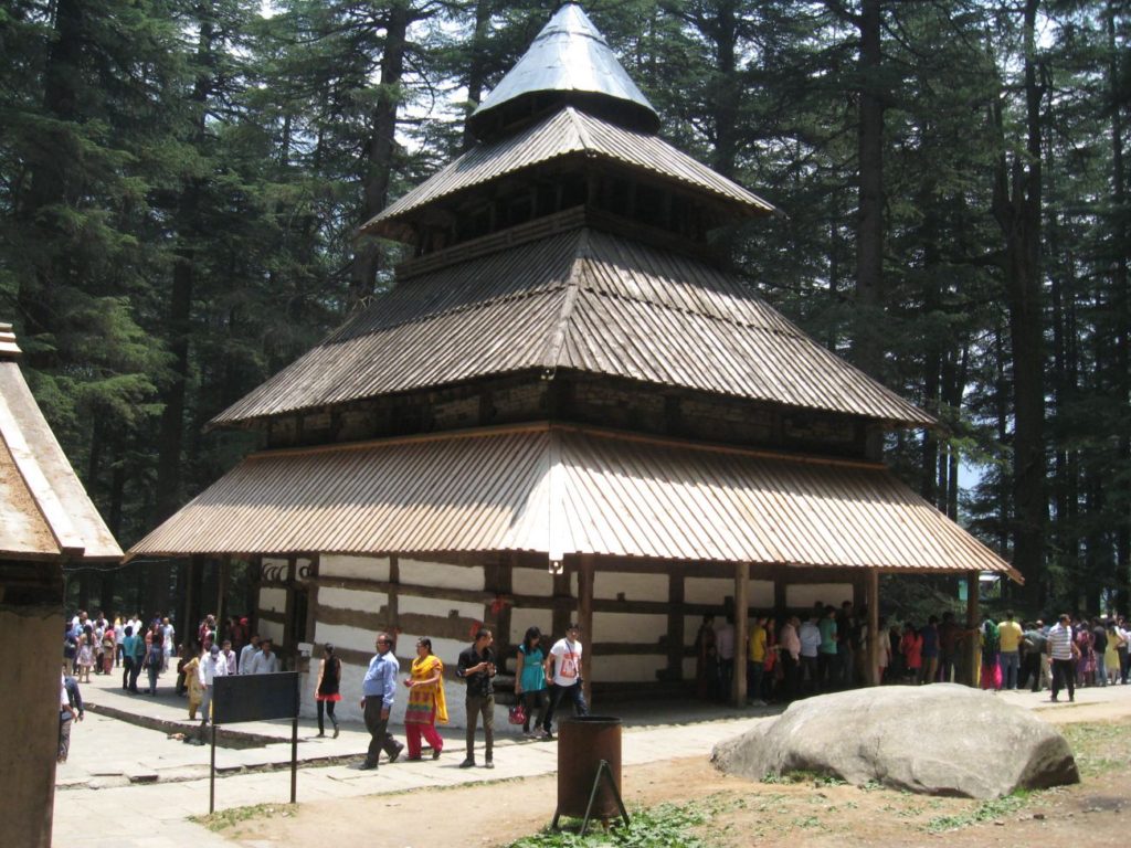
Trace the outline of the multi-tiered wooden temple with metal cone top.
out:
<instances>
[{"instance_id":1,"label":"multi-tiered wooden temple with metal cone top","mask_svg":"<svg viewBox=\"0 0 1131 848\"><path fill-rule=\"evenodd\" d=\"M261 564L259 631L333 642L343 707L379 629L454 665L481 622L507 656L577 618L599 698L680 689L705 613L742 646L741 611L855 599L874 634L880 573L1018 579L870 455L931 416L713 253L771 205L658 126L562 7L477 144L364 225L413 248L392 291L215 418L264 449L130 555Z\"/></svg>"}]
</instances>

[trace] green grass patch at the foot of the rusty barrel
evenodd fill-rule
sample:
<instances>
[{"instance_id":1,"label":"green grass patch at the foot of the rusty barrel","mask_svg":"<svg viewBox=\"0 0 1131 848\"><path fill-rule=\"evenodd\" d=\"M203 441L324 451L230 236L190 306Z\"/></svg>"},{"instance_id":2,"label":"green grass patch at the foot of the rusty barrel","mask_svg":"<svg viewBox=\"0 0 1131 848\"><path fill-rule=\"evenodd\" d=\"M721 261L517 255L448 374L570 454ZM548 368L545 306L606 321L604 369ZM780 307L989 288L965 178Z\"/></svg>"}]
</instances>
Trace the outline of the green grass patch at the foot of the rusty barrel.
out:
<instances>
[{"instance_id":1,"label":"green grass patch at the foot of the rusty barrel","mask_svg":"<svg viewBox=\"0 0 1131 848\"><path fill-rule=\"evenodd\" d=\"M589 832L584 837L577 832L546 828L510 842L507 848L710 848L711 842L694 831L708 824L716 813L733 806L733 802L723 802L715 796L690 804L661 804L630 811L631 823L628 828L612 827L605 831L599 822L590 822ZM575 821L575 827L580 830L580 821Z\"/></svg>"}]
</instances>

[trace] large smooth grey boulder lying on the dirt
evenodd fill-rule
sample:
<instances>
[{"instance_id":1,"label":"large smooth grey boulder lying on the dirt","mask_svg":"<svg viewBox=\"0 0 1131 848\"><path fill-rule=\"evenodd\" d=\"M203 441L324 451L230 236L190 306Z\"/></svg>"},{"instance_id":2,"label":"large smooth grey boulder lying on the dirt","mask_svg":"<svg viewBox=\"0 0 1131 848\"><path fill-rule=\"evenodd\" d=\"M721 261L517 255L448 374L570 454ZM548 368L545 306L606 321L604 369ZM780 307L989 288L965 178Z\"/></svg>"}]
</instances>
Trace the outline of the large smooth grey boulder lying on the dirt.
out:
<instances>
[{"instance_id":1,"label":"large smooth grey boulder lying on the dirt","mask_svg":"<svg viewBox=\"0 0 1131 848\"><path fill-rule=\"evenodd\" d=\"M951 683L798 701L720 742L711 762L752 780L806 771L969 798L1080 780L1059 730L1004 699Z\"/></svg>"}]
</instances>

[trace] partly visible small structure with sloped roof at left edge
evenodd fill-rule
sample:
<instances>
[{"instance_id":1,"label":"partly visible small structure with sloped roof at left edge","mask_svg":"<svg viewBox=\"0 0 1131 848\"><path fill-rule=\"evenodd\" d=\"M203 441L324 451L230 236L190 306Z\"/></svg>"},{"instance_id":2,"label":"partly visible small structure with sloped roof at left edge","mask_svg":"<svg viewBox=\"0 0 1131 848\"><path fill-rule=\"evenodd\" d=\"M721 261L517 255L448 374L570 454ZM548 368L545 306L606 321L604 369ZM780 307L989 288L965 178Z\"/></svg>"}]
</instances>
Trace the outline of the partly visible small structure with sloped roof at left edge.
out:
<instances>
[{"instance_id":1,"label":"partly visible small structure with sloped roof at left edge","mask_svg":"<svg viewBox=\"0 0 1131 848\"><path fill-rule=\"evenodd\" d=\"M122 551L87 497L0 323L0 816L15 843L49 848L59 751L63 568Z\"/></svg>"}]
</instances>

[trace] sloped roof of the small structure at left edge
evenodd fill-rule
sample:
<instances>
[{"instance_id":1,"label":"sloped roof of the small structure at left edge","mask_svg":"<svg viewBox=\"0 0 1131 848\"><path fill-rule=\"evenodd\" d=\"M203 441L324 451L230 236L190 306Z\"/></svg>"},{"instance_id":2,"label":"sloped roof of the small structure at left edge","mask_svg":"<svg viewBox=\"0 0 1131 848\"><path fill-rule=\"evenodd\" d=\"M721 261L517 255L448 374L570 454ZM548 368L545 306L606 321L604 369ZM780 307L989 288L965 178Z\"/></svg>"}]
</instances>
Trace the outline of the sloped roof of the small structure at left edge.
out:
<instances>
[{"instance_id":1,"label":"sloped roof of the small structure at left edge","mask_svg":"<svg viewBox=\"0 0 1131 848\"><path fill-rule=\"evenodd\" d=\"M0 559L120 560L75 475L17 358L11 325L0 325Z\"/></svg>"}]
</instances>

